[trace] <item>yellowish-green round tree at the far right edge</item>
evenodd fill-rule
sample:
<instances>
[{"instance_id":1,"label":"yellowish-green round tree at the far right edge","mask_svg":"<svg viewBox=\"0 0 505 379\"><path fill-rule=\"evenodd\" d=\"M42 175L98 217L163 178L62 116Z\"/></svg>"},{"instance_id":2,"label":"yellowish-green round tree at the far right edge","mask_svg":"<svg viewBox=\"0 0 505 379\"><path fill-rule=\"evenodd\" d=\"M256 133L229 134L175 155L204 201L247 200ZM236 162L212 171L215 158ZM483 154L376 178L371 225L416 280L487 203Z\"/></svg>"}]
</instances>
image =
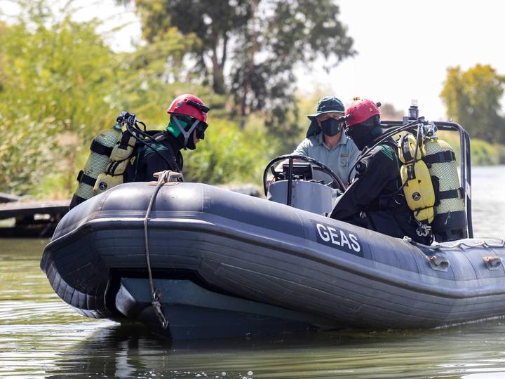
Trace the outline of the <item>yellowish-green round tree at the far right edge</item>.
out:
<instances>
[{"instance_id":1,"label":"yellowish-green round tree at the far right edge","mask_svg":"<svg viewBox=\"0 0 505 379\"><path fill-rule=\"evenodd\" d=\"M505 76L490 65L476 65L466 72L449 67L440 93L447 117L462 124L473 138L504 143L505 119L499 114L504 84Z\"/></svg>"}]
</instances>

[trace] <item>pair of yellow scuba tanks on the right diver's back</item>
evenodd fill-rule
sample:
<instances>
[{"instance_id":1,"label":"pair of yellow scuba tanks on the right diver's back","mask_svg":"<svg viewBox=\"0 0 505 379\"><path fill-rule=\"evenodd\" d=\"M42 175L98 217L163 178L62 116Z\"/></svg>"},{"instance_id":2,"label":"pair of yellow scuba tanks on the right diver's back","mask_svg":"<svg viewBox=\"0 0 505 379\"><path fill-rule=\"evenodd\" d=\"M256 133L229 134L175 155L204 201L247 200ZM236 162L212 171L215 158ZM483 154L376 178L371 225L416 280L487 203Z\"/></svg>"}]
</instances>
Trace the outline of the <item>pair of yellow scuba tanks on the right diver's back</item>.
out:
<instances>
[{"instance_id":1,"label":"pair of yellow scuba tanks on the right diver's back","mask_svg":"<svg viewBox=\"0 0 505 379\"><path fill-rule=\"evenodd\" d=\"M466 238L464 190L459 185L452 147L436 137L418 142L406 132L398 140L398 157L403 163L403 193L419 233L431 228L439 242Z\"/></svg>"}]
</instances>

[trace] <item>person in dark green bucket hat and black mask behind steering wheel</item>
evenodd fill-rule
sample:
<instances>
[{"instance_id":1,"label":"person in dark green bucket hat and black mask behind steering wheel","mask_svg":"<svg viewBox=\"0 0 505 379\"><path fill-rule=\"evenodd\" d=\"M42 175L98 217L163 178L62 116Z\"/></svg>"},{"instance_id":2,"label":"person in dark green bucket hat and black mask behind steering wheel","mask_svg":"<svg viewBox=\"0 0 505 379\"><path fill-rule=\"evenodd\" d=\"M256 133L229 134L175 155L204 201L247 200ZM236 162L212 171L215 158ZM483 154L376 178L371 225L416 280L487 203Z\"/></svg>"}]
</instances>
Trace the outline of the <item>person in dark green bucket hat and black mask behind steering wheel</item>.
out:
<instances>
[{"instance_id":1,"label":"person in dark green bucket hat and black mask behind steering wheel","mask_svg":"<svg viewBox=\"0 0 505 379\"><path fill-rule=\"evenodd\" d=\"M344 105L335 96L325 96L319 100L316 113L307 117L311 121L306 138L292 154L311 157L325 164L334 171L344 183L354 178L349 175L360 150L354 142L342 133Z\"/></svg>"}]
</instances>

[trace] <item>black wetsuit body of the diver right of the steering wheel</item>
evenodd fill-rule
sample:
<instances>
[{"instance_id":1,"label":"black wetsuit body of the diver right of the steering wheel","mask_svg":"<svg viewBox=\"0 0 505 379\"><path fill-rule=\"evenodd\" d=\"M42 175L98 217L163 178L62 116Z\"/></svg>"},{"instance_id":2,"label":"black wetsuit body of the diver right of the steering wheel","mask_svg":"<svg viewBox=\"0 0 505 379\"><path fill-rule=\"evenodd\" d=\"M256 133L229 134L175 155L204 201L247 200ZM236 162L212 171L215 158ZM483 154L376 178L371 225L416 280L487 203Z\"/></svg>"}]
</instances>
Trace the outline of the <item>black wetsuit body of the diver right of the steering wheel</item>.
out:
<instances>
[{"instance_id":1,"label":"black wetsuit body of the diver right of the steering wheel","mask_svg":"<svg viewBox=\"0 0 505 379\"><path fill-rule=\"evenodd\" d=\"M365 171L346 189L330 217L392 237L408 236L431 244L431 236L417 235L417 222L400 189L400 162L394 146L395 142L389 140L372 149L363 159Z\"/></svg>"}]
</instances>

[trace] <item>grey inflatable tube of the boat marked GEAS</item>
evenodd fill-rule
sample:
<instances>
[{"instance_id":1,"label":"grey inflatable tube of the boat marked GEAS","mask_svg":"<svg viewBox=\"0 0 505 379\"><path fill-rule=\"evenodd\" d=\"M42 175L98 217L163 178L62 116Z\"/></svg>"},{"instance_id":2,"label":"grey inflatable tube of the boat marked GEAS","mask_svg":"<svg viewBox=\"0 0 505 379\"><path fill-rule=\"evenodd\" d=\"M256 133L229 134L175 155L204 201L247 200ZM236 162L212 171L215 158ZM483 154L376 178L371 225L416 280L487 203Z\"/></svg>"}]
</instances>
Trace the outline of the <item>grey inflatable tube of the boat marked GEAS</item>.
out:
<instances>
[{"instance_id":1,"label":"grey inflatable tube of the boat marked GEAS","mask_svg":"<svg viewBox=\"0 0 505 379\"><path fill-rule=\"evenodd\" d=\"M144 218L155 190L120 185L58 225L41 268L81 314L121 316L109 300L118 291L111 277L146 272ZM415 246L189 182L161 187L148 236L156 278L189 272L215 293L311 314L328 326L431 328L505 314L503 241Z\"/></svg>"}]
</instances>

